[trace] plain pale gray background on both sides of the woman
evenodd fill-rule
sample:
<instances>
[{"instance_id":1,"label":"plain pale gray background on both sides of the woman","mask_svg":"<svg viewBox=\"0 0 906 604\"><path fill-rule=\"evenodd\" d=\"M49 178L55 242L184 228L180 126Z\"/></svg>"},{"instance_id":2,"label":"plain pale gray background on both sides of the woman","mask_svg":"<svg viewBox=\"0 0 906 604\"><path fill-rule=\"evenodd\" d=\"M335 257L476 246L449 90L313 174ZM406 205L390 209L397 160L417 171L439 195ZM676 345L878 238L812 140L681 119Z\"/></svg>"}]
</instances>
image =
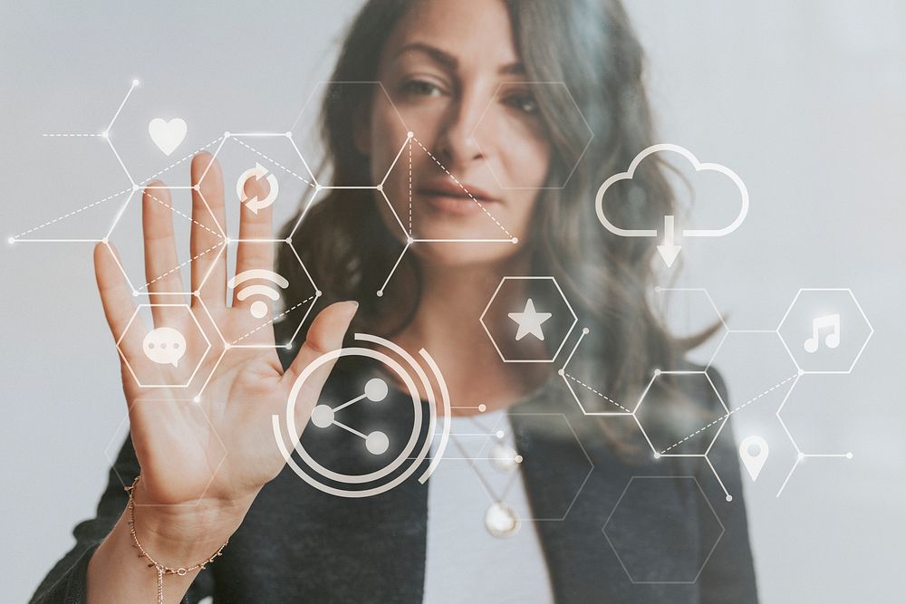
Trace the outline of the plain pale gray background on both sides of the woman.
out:
<instances>
[{"instance_id":1,"label":"plain pale gray background on both sides of the woman","mask_svg":"<svg viewBox=\"0 0 906 604\"><path fill-rule=\"evenodd\" d=\"M2 235L127 184L101 139L41 134L99 131L132 77L142 84L118 122L117 144L137 180L166 165L142 131L149 117L188 121L174 158L223 129L288 129L326 78L358 4L4 2ZM762 597L896 599L906 537L906 413L893 362L906 339L906 8L714 0L632 2L630 10L650 53L661 139L733 168L752 197L737 233L684 244L676 285L708 288L736 330L773 330L800 287L849 287L875 328L851 375L807 376L787 402L803 449L852 451L852 461L808 459L777 498L795 461L774 415L788 384L736 414L737 436L771 436L764 474L746 481ZM187 178L184 169L174 174L172 182ZM114 209L97 206L45 235L100 236ZM0 283L0 566L5 601L23 601L71 547L72 526L93 515L104 450L111 438L119 446L125 408L91 244L4 244ZM677 330L706 320L696 294L673 296ZM731 336L717 359L731 407L792 375L784 355L770 334Z\"/></svg>"}]
</instances>

